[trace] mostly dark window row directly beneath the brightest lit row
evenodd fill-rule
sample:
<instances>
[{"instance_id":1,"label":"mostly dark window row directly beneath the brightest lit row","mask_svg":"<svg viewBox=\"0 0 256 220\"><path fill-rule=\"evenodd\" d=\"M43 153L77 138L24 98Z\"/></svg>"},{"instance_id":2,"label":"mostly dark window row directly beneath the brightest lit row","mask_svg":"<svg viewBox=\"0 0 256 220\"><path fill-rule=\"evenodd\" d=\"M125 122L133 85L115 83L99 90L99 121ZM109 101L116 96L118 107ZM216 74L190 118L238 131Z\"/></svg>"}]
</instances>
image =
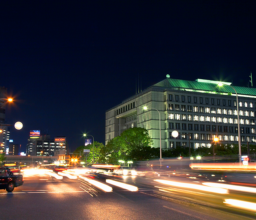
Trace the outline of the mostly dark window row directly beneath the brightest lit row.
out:
<instances>
[{"instance_id":1,"label":"mostly dark window row directly beneath the brightest lit row","mask_svg":"<svg viewBox=\"0 0 256 220\"><path fill-rule=\"evenodd\" d=\"M200 130L200 131L212 131L212 132L230 132L237 133L238 128L233 126L216 126L216 125L197 125L197 124L180 124L169 122L169 129L176 130ZM240 127L241 133L256 134L256 128Z\"/></svg>"}]
</instances>

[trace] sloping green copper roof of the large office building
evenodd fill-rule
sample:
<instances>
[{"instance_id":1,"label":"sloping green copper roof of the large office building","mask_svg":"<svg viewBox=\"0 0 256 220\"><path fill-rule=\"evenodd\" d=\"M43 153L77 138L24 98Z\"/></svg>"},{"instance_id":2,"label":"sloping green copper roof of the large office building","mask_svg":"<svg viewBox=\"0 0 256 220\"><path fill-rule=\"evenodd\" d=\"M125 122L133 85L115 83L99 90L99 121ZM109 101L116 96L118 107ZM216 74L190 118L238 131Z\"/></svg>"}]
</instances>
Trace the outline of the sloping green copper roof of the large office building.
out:
<instances>
[{"instance_id":1,"label":"sloping green copper roof of the large office building","mask_svg":"<svg viewBox=\"0 0 256 220\"><path fill-rule=\"evenodd\" d=\"M213 81L216 82L216 81ZM192 90L204 90L211 92L224 92L224 93L236 93L243 95L256 95L255 88L247 88L240 86L232 86L234 89L228 85L223 84L223 86L219 86L216 83L202 83L197 81L188 81L182 79L170 79L167 78L159 83L154 84L154 86L161 86L166 88L183 88L183 89L192 89Z\"/></svg>"}]
</instances>

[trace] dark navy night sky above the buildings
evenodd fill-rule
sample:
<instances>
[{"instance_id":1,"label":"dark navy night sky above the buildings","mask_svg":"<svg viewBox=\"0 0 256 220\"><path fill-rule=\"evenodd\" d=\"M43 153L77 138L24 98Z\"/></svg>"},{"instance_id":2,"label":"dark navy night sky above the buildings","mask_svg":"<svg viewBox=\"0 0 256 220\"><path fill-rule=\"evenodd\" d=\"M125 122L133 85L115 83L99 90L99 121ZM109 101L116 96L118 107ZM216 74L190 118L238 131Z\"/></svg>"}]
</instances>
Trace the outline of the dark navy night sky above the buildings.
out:
<instances>
[{"instance_id":1,"label":"dark navy night sky above the buildings","mask_svg":"<svg viewBox=\"0 0 256 220\"><path fill-rule=\"evenodd\" d=\"M105 112L165 79L256 85L256 3L237 0L0 2L6 122L25 151L30 130L105 143ZM254 80L255 79L255 80ZM249 84L250 85L250 84ZM89 138L89 137L88 137Z\"/></svg>"}]
</instances>

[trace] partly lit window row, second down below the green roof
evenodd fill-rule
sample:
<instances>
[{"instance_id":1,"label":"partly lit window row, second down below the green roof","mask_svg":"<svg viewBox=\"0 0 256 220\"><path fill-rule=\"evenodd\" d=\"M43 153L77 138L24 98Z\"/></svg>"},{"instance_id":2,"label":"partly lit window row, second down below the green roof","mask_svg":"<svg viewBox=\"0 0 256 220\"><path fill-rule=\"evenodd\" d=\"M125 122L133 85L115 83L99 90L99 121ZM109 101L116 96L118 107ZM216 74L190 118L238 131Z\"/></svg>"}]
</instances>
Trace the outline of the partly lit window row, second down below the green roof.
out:
<instances>
[{"instance_id":1,"label":"partly lit window row, second down below the green roof","mask_svg":"<svg viewBox=\"0 0 256 220\"><path fill-rule=\"evenodd\" d=\"M237 116L237 110L236 109L226 109L226 108L209 108L209 107L202 107L202 106L191 106L188 105L186 109L186 105L173 105L168 104L168 107L166 110L170 111L182 111L182 112L199 112L199 113L208 113L208 114L223 114L223 115L231 115L231 116ZM248 110L239 110L239 116L250 116L254 117L255 112L254 111L248 111Z\"/></svg>"}]
</instances>

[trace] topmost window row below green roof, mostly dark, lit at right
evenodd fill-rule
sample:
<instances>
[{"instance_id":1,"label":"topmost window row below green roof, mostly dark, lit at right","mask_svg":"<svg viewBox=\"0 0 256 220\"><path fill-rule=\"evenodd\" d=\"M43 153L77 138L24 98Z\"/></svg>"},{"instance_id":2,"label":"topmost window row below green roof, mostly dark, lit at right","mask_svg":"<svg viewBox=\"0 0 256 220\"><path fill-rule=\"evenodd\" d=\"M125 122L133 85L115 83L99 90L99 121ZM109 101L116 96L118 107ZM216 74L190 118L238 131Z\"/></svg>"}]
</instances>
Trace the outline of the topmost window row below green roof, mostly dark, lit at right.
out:
<instances>
[{"instance_id":1,"label":"topmost window row below green roof, mostly dark, lit at right","mask_svg":"<svg viewBox=\"0 0 256 220\"><path fill-rule=\"evenodd\" d=\"M167 100L166 100L167 101ZM215 99L215 98L203 98L203 97L191 97L185 95L173 95L169 94L169 101L182 102L182 103L196 103L196 104L205 104L205 105L223 105L223 106L232 106L232 100L228 100L226 103L226 99ZM236 106L236 101L234 102L234 106ZM239 102L239 106L244 106L245 108L250 107L253 108L252 102Z\"/></svg>"}]
</instances>

